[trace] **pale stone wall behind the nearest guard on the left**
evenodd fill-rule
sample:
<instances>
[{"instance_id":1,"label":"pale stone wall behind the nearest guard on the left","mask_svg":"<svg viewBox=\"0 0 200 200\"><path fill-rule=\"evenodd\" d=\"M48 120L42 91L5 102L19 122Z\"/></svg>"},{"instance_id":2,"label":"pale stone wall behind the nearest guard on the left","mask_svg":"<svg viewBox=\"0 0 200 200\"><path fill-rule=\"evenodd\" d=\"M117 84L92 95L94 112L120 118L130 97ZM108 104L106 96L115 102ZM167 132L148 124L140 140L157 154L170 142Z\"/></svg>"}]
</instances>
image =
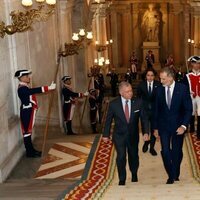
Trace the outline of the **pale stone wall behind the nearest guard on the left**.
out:
<instances>
[{"instance_id":1,"label":"pale stone wall behind the nearest guard on the left","mask_svg":"<svg viewBox=\"0 0 200 200\"><path fill-rule=\"evenodd\" d=\"M23 10L19 0L0 0L0 21L11 23L11 10ZM0 182L3 182L24 151L17 97L18 69L33 72L32 85L49 85L54 79L58 49L57 17L36 23L34 31L0 38ZM45 124L50 95L39 95L36 123ZM59 124L58 95L55 92L50 124ZM35 133L36 134L36 133Z\"/></svg>"}]
</instances>

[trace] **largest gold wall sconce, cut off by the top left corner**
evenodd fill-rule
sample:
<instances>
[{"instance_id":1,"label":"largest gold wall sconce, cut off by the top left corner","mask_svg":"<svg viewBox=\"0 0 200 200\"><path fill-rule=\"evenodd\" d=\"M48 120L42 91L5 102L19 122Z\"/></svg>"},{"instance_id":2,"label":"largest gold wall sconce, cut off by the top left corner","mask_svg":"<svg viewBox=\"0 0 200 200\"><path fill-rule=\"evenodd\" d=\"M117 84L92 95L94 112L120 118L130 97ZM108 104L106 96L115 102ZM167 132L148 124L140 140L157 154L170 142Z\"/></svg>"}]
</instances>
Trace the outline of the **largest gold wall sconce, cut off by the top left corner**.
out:
<instances>
[{"instance_id":1,"label":"largest gold wall sconce, cut off by the top left corner","mask_svg":"<svg viewBox=\"0 0 200 200\"><path fill-rule=\"evenodd\" d=\"M33 24L40 21L46 21L55 12L56 0L35 0L38 4L37 8L32 8L32 0L22 0L24 11L11 11L11 24L6 25L0 21L0 37L6 34L12 35L16 32L25 32L33 30Z\"/></svg>"}]
</instances>

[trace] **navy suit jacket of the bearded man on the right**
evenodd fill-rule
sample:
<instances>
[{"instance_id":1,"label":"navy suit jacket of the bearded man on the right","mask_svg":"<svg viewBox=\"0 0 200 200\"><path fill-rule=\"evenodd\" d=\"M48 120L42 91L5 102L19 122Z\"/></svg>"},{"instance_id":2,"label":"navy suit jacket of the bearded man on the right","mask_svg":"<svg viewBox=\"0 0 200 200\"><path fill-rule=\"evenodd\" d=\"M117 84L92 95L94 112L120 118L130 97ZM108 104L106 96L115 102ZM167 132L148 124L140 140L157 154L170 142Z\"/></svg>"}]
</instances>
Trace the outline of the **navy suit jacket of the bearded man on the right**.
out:
<instances>
[{"instance_id":1,"label":"navy suit jacket of the bearded man on the right","mask_svg":"<svg viewBox=\"0 0 200 200\"><path fill-rule=\"evenodd\" d=\"M171 107L167 106L165 87L159 87L156 91L154 110L154 129L162 132L176 133L181 125L188 126L192 115L192 101L187 87L181 83L175 83Z\"/></svg>"}]
</instances>

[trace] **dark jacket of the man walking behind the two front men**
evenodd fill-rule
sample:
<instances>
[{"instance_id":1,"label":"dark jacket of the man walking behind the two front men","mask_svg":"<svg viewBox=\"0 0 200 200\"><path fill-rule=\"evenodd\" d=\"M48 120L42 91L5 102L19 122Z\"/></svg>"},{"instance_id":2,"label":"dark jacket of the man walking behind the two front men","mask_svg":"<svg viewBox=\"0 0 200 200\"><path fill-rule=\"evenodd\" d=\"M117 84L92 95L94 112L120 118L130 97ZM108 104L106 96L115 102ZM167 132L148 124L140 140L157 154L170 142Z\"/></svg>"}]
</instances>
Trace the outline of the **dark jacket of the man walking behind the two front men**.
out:
<instances>
[{"instance_id":1,"label":"dark jacket of the man walking behind the two front men","mask_svg":"<svg viewBox=\"0 0 200 200\"><path fill-rule=\"evenodd\" d=\"M142 81L137 87L137 97L142 99L144 109L151 111L153 102L155 101L155 94L157 87L161 86L159 81L153 82L152 92L149 95L147 81Z\"/></svg>"}]
</instances>

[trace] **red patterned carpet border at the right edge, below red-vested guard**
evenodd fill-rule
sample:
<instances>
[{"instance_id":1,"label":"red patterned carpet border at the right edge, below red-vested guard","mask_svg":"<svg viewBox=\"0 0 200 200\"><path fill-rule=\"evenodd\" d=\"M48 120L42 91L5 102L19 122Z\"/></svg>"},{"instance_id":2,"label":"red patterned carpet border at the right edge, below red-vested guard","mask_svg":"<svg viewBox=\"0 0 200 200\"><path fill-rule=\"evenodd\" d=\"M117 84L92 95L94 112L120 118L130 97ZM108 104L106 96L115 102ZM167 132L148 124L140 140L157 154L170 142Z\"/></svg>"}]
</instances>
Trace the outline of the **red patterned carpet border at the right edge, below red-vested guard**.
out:
<instances>
[{"instance_id":1,"label":"red patterned carpet border at the right edge, below red-vested guard","mask_svg":"<svg viewBox=\"0 0 200 200\"><path fill-rule=\"evenodd\" d=\"M200 183L200 140L196 133L188 133L185 137L194 178Z\"/></svg>"}]
</instances>

